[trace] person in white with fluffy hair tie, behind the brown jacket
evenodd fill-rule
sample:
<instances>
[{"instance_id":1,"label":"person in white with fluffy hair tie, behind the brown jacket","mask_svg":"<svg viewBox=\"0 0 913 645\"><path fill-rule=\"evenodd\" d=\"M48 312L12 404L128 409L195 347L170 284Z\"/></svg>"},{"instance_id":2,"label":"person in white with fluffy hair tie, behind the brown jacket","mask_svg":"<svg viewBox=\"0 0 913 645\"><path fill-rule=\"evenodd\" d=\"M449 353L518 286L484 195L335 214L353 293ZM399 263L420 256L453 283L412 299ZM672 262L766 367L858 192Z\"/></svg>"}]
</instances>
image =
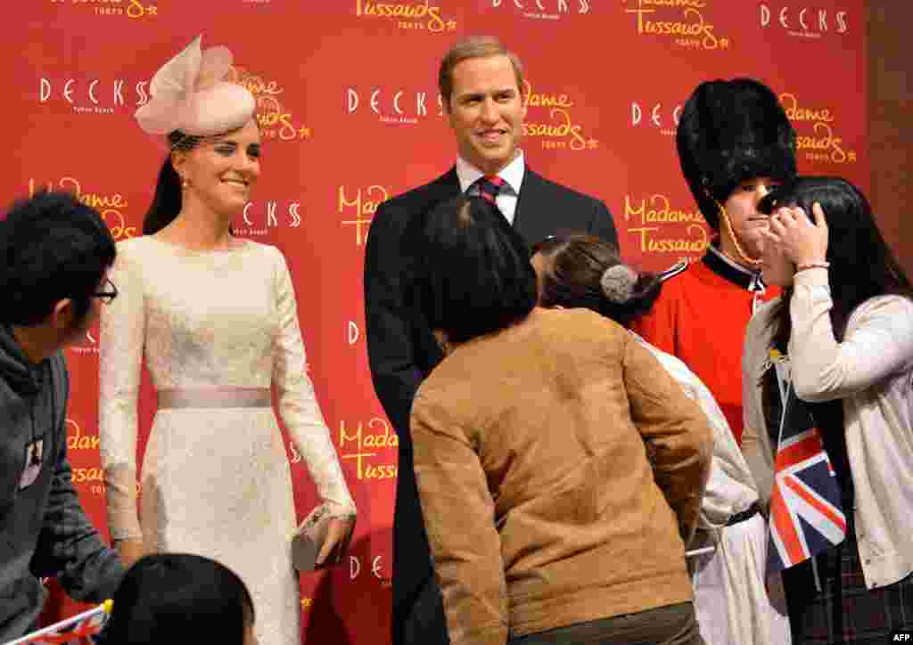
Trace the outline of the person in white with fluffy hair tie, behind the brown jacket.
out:
<instances>
[{"instance_id":1,"label":"person in white with fluffy hair tie, behind the brown jacket","mask_svg":"<svg viewBox=\"0 0 913 645\"><path fill-rule=\"evenodd\" d=\"M649 310L662 288L658 276L638 275L622 264L614 244L591 235L538 244L532 265L539 276L540 307L584 307L624 327ZM715 548L688 559L695 572L701 635L708 645L788 645L785 609L771 606L765 591L767 523L759 513L758 488L725 415L685 363L633 336L698 402L713 429L710 476L698 531L688 545L693 550Z\"/></svg>"}]
</instances>

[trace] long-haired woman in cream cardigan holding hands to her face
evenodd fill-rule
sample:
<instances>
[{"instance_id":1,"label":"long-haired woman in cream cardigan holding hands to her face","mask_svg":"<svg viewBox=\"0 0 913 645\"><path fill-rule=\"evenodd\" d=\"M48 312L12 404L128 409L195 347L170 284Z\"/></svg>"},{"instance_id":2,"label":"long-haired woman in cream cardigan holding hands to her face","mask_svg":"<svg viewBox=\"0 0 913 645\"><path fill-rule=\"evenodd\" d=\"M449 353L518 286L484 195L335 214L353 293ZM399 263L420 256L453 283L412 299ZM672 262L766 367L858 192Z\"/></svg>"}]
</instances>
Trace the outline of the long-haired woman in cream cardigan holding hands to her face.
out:
<instances>
[{"instance_id":1,"label":"long-haired woman in cream cardigan holding hands to her face","mask_svg":"<svg viewBox=\"0 0 913 645\"><path fill-rule=\"evenodd\" d=\"M764 279L784 291L748 327L742 447L766 505L784 360L846 515L843 542L783 572L793 642L887 642L913 628L913 289L851 183L800 178L762 208Z\"/></svg>"}]
</instances>

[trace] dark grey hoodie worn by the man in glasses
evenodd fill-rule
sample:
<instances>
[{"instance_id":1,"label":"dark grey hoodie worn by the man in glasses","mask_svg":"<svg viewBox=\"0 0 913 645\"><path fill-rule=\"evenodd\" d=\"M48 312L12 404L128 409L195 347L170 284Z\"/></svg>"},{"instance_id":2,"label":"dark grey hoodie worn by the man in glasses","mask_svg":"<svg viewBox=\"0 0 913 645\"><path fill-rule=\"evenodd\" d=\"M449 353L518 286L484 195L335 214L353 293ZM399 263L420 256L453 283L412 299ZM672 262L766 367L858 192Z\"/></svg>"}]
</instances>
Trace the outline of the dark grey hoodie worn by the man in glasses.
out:
<instances>
[{"instance_id":1,"label":"dark grey hoodie worn by the man in glasses","mask_svg":"<svg viewBox=\"0 0 913 645\"><path fill-rule=\"evenodd\" d=\"M57 577L70 597L110 598L123 575L73 488L67 460L67 364L58 352L31 363L0 325L0 642L34 628L45 600L38 578ZM43 442L26 486L26 450Z\"/></svg>"}]
</instances>

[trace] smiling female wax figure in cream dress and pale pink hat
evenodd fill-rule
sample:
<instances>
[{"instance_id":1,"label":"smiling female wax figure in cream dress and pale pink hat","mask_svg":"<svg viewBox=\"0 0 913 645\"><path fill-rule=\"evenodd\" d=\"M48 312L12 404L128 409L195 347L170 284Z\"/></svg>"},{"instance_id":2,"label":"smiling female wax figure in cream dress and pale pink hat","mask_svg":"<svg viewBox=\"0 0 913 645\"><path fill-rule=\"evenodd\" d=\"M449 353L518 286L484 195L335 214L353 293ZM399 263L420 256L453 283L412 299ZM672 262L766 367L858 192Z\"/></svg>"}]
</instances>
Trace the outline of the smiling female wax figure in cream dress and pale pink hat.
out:
<instances>
[{"instance_id":1,"label":"smiling female wax figure in cream dress and pale pink hat","mask_svg":"<svg viewBox=\"0 0 913 645\"><path fill-rule=\"evenodd\" d=\"M341 557L355 507L308 377L295 294L273 246L231 234L260 173L255 100L221 81L231 54L199 38L152 78L137 110L167 133L142 237L118 244L121 297L101 320L100 439L110 532L128 562L143 553L213 557L247 583L261 643L299 639L289 460L278 409L331 517L321 563ZM158 409L137 517L141 362ZM330 555L332 552L332 556Z\"/></svg>"}]
</instances>

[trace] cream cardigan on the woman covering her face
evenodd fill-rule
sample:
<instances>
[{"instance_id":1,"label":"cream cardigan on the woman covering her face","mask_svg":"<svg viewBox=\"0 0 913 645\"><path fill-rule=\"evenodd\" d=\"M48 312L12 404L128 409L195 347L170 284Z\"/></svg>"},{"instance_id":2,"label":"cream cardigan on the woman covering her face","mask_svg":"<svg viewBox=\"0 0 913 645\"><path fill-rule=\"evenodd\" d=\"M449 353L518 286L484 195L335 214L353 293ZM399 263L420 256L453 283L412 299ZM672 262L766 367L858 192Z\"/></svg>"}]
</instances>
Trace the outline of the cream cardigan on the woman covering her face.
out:
<instances>
[{"instance_id":1,"label":"cream cardigan on the woman covering her face","mask_svg":"<svg viewBox=\"0 0 913 645\"><path fill-rule=\"evenodd\" d=\"M770 365L771 311L761 307L746 330L742 359L742 450L764 505L773 484L773 451L761 406ZM836 342L825 269L796 274L790 302L792 382L804 401L843 400L846 452L855 487L855 525L866 587L913 571L913 301L866 300Z\"/></svg>"}]
</instances>

